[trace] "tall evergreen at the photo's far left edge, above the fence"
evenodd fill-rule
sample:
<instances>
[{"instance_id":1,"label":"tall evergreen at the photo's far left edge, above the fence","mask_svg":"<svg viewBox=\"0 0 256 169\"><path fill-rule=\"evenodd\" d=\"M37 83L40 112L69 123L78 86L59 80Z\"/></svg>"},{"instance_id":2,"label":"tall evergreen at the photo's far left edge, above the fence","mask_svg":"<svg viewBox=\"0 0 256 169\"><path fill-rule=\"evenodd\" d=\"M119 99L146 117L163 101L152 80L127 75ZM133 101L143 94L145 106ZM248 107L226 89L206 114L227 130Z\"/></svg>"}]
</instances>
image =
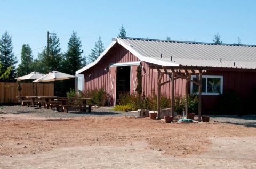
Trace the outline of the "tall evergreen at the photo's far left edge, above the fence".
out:
<instances>
[{"instance_id":1,"label":"tall evergreen at the photo's far left edge, above the fence","mask_svg":"<svg viewBox=\"0 0 256 169\"><path fill-rule=\"evenodd\" d=\"M6 31L2 34L2 38L0 39L0 62L2 63L0 72L5 72L11 67L11 71L9 77L2 81L15 81L15 64L18 62L17 57L14 56L12 52L12 37Z\"/></svg>"}]
</instances>

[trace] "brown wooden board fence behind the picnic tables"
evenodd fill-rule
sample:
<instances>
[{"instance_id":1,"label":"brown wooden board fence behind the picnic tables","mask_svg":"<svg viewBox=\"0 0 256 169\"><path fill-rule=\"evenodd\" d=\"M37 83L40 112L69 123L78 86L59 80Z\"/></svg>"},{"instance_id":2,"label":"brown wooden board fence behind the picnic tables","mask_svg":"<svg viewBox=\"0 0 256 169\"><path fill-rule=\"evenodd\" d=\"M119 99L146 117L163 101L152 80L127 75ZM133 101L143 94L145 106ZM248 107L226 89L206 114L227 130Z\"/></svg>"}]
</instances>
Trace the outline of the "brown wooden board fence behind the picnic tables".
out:
<instances>
[{"instance_id":1,"label":"brown wooden board fence behind the picnic tables","mask_svg":"<svg viewBox=\"0 0 256 169\"><path fill-rule=\"evenodd\" d=\"M20 83L21 96L35 96L37 89L38 96L53 96L54 85L52 83ZM18 83L0 83L0 103L18 103L19 91L17 90ZM34 86L34 94L33 94Z\"/></svg>"}]
</instances>

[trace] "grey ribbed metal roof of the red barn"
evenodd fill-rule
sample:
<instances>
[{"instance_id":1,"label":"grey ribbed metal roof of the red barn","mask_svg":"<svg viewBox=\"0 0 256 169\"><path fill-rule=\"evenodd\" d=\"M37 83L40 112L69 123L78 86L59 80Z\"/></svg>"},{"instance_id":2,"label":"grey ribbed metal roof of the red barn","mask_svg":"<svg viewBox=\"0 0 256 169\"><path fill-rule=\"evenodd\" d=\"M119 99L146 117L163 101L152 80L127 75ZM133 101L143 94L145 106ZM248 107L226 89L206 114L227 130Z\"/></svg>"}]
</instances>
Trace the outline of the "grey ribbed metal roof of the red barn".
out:
<instances>
[{"instance_id":1,"label":"grey ribbed metal roof of the red barn","mask_svg":"<svg viewBox=\"0 0 256 169\"><path fill-rule=\"evenodd\" d=\"M214 44L139 38L116 38L144 61L167 62L169 66L236 67L256 69L256 45ZM162 55L162 58L161 58ZM145 58L146 57L146 58ZM156 62L154 62L157 64ZM159 64L160 65L160 64ZM164 65L162 65L164 66Z\"/></svg>"}]
</instances>

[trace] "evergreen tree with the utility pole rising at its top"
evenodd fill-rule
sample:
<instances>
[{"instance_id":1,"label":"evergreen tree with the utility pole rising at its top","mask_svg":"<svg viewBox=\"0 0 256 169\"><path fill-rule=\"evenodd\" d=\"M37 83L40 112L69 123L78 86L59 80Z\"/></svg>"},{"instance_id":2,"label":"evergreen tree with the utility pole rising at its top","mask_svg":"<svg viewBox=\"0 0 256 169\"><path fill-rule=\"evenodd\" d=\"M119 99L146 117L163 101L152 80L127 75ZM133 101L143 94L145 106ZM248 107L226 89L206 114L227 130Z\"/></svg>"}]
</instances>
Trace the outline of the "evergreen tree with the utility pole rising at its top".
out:
<instances>
[{"instance_id":1,"label":"evergreen tree with the utility pole rising at its top","mask_svg":"<svg viewBox=\"0 0 256 169\"><path fill-rule=\"evenodd\" d=\"M60 39L57 38L55 33L51 33L49 37L49 54L47 52L47 47L45 46L42 55L42 63L43 66L45 66L44 73L60 70L62 53L60 48Z\"/></svg>"}]
</instances>

